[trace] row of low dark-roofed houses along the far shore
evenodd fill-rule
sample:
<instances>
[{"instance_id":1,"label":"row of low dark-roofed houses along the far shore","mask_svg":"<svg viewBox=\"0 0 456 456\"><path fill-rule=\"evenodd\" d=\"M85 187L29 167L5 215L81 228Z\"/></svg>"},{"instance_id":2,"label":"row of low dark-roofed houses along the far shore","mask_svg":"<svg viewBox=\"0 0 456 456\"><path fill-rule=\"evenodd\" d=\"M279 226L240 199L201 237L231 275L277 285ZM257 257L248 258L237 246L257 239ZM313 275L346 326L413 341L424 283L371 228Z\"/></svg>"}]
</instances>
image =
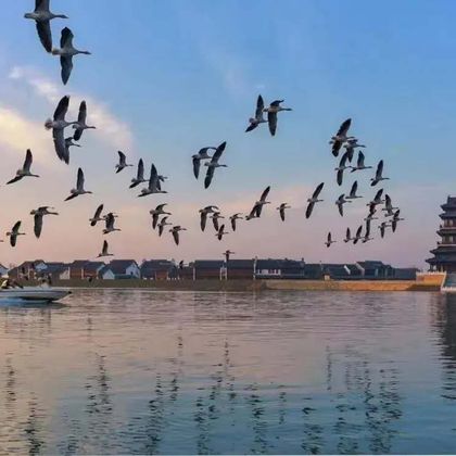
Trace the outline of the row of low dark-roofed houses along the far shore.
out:
<instances>
[{"instance_id":1,"label":"row of low dark-roofed houses along the far shore","mask_svg":"<svg viewBox=\"0 0 456 456\"><path fill-rule=\"evenodd\" d=\"M15 279L40 279L51 276L53 280L232 280L232 279L313 279L313 280L414 280L417 268L394 268L379 261L353 264L305 263L304 259L197 259L188 265L177 265L168 259L144 259L140 265L135 259L90 262L76 259L73 263L55 263L36 259L24 262L8 271ZM3 273L5 274L5 271Z\"/></svg>"}]
</instances>

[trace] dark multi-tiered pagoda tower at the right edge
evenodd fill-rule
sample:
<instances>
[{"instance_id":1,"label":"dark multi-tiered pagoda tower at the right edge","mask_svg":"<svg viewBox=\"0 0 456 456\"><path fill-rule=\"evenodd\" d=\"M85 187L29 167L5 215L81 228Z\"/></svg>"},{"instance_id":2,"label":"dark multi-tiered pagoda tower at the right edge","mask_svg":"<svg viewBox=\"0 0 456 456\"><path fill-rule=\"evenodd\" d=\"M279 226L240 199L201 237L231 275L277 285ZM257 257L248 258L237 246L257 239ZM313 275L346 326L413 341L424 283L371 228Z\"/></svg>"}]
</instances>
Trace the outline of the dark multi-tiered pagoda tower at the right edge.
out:
<instances>
[{"instance_id":1,"label":"dark multi-tiered pagoda tower at the right edge","mask_svg":"<svg viewBox=\"0 0 456 456\"><path fill-rule=\"evenodd\" d=\"M441 225L436 233L441 240L436 249L431 250L434 255L428 258L431 270L442 273L456 273L456 198L448 197L446 203L441 205Z\"/></svg>"}]
</instances>

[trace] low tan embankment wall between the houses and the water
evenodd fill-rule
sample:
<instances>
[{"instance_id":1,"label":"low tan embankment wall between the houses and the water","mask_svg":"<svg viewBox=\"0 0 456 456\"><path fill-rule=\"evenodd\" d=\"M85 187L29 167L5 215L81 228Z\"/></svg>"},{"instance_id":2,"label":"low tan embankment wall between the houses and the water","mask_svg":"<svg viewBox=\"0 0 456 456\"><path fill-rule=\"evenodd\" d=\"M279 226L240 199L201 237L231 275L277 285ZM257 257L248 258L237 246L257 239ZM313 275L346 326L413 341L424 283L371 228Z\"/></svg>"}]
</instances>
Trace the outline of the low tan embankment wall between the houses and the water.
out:
<instances>
[{"instance_id":1,"label":"low tan embankment wall between the houses and the water","mask_svg":"<svg viewBox=\"0 0 456 456\"><path fill-rule=\"evenodd\" d=\"M169 291L439 291L420 280L60 280L55 287L151 289Z\"/></svg>"}]
</instances>

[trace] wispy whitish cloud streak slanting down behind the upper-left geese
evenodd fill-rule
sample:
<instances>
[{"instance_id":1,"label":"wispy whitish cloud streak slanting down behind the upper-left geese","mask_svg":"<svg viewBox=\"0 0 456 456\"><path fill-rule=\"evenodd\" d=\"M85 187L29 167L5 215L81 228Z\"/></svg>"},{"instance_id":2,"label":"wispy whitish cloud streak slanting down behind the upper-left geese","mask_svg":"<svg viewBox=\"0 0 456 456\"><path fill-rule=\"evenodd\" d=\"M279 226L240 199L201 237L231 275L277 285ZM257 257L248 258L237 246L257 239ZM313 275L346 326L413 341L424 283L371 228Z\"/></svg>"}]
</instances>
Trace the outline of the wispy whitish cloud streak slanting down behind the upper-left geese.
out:
<instances>
[{"instance_id":1,"label":"wispy whitish cloud streak slanting down behind the upper-left geese","mask_svg":"<svg viewBox=\"0 0 456 456\"><path fill-rule=\"evenodd\" d=\"M26 66L14 66L9 77L10 79L26 83L35 93L42 97L52 106L55 106L59 100L67 94L65 89ZM115 148L131 149L134 140L129 126L111 113L104 103L81 93L74 93L73 99L86 100L88 122L97 126L97 137L99 139ZM78 106L79 103L71 103L69 114L72 117L77 116Z\"/></svg>"}]
</instances>

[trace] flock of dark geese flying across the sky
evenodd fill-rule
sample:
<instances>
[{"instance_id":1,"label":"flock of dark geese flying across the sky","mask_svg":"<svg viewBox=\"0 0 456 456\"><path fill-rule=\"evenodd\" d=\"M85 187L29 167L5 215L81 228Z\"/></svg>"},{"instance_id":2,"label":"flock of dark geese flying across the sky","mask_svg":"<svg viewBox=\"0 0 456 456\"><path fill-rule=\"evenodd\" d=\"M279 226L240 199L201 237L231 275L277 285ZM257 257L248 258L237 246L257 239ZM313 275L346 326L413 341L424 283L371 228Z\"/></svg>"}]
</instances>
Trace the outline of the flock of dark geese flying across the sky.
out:
<instances>
[{"instance_id":1,"label":"flock of dark geese flying across the sky","mask_svg":"<svg viewBox=\"0 0 456 456\"><path fill-rule=\"evenodd\" d=\"M50 23L51 20L60 17L60 18L67 18L66 15L63 14L53 14L50 12L50 0L36 0L35 2L35 11L31 13L25 14L26 18L34 20L36 22L36 27L38 31L39 39L48 53L52 55L60 55L61 61L61 77L64 85L69 79L73 69L73 56L76 54L89 54L88 51L79 51L73 47L73 33L69 28L65 27L61 34L61 42L60 48L55 49L52 47L52 34ZM265 103L262 96L258 96L256 100L256 109L254 117L249 119L249 126L245 129L245 132L250 132L262 124L268 124L269 132L271 136L276 135L277 131L277 122L278 122L278 114L284 111L292 111L290 107L281 106L283 100L275 100L268 106L265 107ZM63 97L53 114L52 118L48 118L45 123L45 127L48 130L52 130L53 143L56 156L66 164L69 164L69 148L72 147L80 147L78 141L80 141L83 134L86 129L94 129L94 126L90 126L87 124L87 104L85 101L80 103L79 106L79 114L77 121L68 122L66 121L66 115L69 106L69 97ZM267 113L267 118L264 117L264 114ZM67 127L72 127L74 130L72 135L66 136L65 129ZM332 144L332 154L338 157L341 149L343 148L345 151L342 154L337 170L337 183L342 186L344 173L349 169L351 173L360 172L364 169L369 169L371 166L365 165L365 155L364 153L358 150L365 148L364 144L359 144L358 140L353 137L349 136L349 129L351 127L351 119L346 119L342 123L341 127L339 128L335 136L333 136L330 140L330 144ZM192 155L192 164L193 164L193 175L195 179L200 177L200 169L201 164L203 163L204 167L206 168L206 174L204 178L204 188L207 189L215 175L216 168L227 167L227 165L219 163L224 151L226 150L227 142L224 141L217 147L205 147L202 148L197 154ZM213 151L213 154L210 153ZM357 161L356 165L352 165L352 161L354 159L354 154L357 151ZM115 166L116 173L121 173L127 167L134 166L132 164L127 163L126 155L118 151L118 163ZM8 183L14 183L18 180L23 179L24 177L39 177L31 173L33 164L33 153L30 150L27 150L24 165L21 169L16 172L16 176L12 178ZM167 193L165 190L162 189L162 185L167 179L166 176L160 175L155 165L151 164L150 175L149 178L144 177L144 163L143 160L140 159L137 165L137 173L136 176L131 179L131 183L129 186L130 189L136 188L140 183L147 185L147 187L142 188L138 197L147 197L149 194L155 193ZM383 161L380 161L377 165L377 170L375 177L371 180L371 187L376 187L379 182L388 179L388 177L383 176ZM305 211L306 218L309 218L313 214L315 205L320 203L320 193L324 189L325 183L321 182L317 186L314 193L311 198L307 199L307 208ZM360 199L363 197L357 194L358 183L357 180L353 182L349 194L342 193L338 200L335 201L335 205L338 206L339 214L341 216L344 215L344 205L347 203L352 203L356 199ZM263 193L261 194L259 199L255 201L253 204L250 213L244 217L241 213L232 214L228 217L229 225L232 231L236 231L238 220L245 219L251 220L253 218L259 218L262 215L263 207L270 202L267 201L268 194L270 191L270 187L267 187ZM85 189L85 177L84 172L81 168L77 170L77 180L76 187L69 191L69 195L65 199L65 201L73 200L79 195L92 193ZM387 228L391 227L392 231L396 230L398 221L403 220L400 217L400 210L394 207L392 204L392 200L389 194L383 197L383 189L377 191L375 198L367 204L369 207L368 215L364 218L365 224L360 225L355 236L352 237L351 229L346 229L346 236L344 242L353 242L356 244L358 241L367 242L371 240L371 220L378 219L375 215L378 213L377 207L380 204L384 203L384 207L382 212L384 212L385 220L380 223L380 236L383 238ZM152 228L157 229L159 236L161 237L164 232L164 229L169 226L169 232L172 233L174 241L176 244L179 244L179 232L185 231L186 228L180 225L173 225L168 221L169 216L172 215L169 212L165 210L167 206L166 203L159 204L154 210L150 211L152 216ZM291 206L288 203L281 203L277 211L282 221L286 220L286 211L289 210ZM94 227L98 223L104 224L103 235L109 235L114 231L121 231L119 228L115 227L115 221L117 215L113 212L107 212L103 214L104 205L100 204L97 207L93 216L89 219L90 225ZM223 240L224 236L228 233L226 231L226 224L219 223L219 220L224 219L225 217L221 215L220 210L217 205L207 205L199 211L200 213L200 227L201 230L204 231L206 228L207 218L212 219L215 236L218 240ZM30 213L34 215L34 232L37 238L40 237L42 230L42 221L43 217L47 215L58 215L54 212L53 207L50 206L41 206L37 210L31 211ZM365 228L365 229L364 229ZM364 233L363 233L364 229ZM24 235L21 232L21 221L17 221L11 231L7 233L10 237L10 243L12 246L16 245L16 240L18 236ZM325 244L329 248L335 240L332 238L331 232L328 232L327 239ZM229 256L233 254L233 252L227 250L224 255L228 259ZM103 241L101 253L98 257L104 256L113 256L112 253L109 252L109 243L106 240Z\"/></svg>"}]
</instances>

